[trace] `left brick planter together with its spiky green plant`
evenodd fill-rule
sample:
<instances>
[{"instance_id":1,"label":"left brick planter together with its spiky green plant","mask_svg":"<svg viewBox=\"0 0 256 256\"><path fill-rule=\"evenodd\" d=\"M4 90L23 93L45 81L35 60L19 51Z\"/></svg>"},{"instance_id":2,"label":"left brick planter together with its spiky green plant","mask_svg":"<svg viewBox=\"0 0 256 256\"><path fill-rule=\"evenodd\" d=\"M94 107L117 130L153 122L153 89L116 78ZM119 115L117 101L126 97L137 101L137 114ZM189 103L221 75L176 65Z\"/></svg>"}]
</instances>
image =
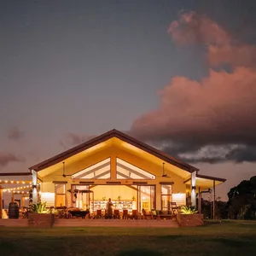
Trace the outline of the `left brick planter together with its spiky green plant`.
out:
<instances>
[{"instance_id":1,"label":"left brick planter together with its spiky green plant","mask_svg":"<svg viewBox=\"0 0 256 256\"><path fill-rule=\"evenodd\" d=\"M46 209L46 202L33 204L28 214L28 225L32 227L51 227L54 224L54 214Z\"/></svg>"}]
</instances>

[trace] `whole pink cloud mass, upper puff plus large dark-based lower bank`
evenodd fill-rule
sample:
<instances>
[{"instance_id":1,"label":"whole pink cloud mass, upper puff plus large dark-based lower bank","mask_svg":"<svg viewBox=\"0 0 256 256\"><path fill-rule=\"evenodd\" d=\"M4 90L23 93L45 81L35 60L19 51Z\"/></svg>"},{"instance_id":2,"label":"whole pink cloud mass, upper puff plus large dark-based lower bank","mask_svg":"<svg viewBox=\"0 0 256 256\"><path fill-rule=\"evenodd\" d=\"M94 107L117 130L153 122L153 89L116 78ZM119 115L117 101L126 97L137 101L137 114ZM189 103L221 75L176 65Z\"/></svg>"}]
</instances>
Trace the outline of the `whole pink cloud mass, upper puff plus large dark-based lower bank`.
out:
<instances>
[{"instance_id":1,"label":"whole pink cloud mass, upper puff plus large dark-based lower bank","mask_svg":"<svg viewBox=\"0 0 256 256\"><path fill-rule=\"evenodd\" d=\"M178 45L201 45L209 70L195 81L173 77L160 106L134 120L131 134L189 162L256 160L256 46L238 42L206 15L183 13L169 27Z\"/></svg>"}]
</instances>

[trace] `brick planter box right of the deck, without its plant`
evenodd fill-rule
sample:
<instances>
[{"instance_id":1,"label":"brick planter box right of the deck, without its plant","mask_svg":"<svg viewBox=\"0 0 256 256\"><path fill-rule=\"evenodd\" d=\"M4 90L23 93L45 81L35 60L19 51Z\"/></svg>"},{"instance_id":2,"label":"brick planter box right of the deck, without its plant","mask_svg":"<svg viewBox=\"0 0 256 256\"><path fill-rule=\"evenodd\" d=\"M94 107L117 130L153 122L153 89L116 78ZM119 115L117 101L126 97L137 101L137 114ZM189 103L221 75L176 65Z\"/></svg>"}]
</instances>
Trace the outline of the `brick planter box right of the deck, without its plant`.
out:
<instances>
[{"instance_id":1,"label":"brick planter box right of the deck, without its plant","mask_svg":"<svg viewBox=\"0 0 256 256\"><path fill-rule=\"evenodd\" d=\"M203 214L177 214L177 223L180 227L196 227L204 224Z\"/></svg>"}]
</instances>

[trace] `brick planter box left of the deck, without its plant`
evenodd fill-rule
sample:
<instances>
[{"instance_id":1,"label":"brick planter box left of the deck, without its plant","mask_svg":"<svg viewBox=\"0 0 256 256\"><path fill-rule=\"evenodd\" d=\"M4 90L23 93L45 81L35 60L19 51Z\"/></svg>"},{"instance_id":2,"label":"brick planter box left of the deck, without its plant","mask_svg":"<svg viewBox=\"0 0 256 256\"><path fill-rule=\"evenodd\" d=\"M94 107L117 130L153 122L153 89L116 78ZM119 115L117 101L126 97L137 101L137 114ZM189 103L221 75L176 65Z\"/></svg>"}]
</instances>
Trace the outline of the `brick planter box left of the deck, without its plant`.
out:
<instances>
[{"instance_id":1,"label":"brick planter box left of the deck, without its plant","mask_svg":"<svg viewBox=\"0 0 256 256\"><path fill-rule=\"evenodd\" d=\"M55 221L52 213L29 213L28 225L30 227L50 228Z\"/></svg>"}]
</instances>

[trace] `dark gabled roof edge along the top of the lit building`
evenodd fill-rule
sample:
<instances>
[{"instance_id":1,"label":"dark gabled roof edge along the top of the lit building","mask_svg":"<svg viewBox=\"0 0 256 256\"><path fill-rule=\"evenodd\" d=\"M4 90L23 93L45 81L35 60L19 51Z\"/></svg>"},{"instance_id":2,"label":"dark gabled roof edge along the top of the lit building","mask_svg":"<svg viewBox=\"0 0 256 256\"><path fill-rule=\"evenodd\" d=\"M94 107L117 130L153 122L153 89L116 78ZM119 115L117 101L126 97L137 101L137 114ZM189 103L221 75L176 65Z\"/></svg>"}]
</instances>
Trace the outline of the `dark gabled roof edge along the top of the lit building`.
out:
<instances>
[{"instance_id":1,"label":"dark gabled roof edge along the top of the lit building","mask_svg":"<svg viewBox=\"0 0 256 256\"><path fill-rule=\"evenodd\" d=\"M61 162L62 160L65 160L68 157L73 156L74 154L79 154L80 152L82 152L88 148L91 148L93 146L96 146L99 143L108 141L108 139L113 138L113 137L119 138L120 140L124 141L125 143L130 143L131 145L133 145L137 148L140 148L140 149L148 152L149 154L153 154L154 156L160 158L161 160L166 161L166 162L172 164L173 166L177 166L187 172L199 171L199 169L195 168L194 166L190 166L187 163L182 162L181 160L177 160L177 159L173 158L171 155L166 154L165 152L160 151L156 148L153 148L146 143L140 142L137 139L135 139L134 137L130 137L127 134L125 134L121 131L117 131L115 129L108 131L106 133L103 133L102 135L100 135L98 137L94 137L94 138L90 139L89 141L82 143L76 147L70 148L67 151L62 152L61 154L56 154L54 157L51 157L48 160L44 160L43 162L40 162L35 166L31 166L29 169L35 170L37 172L41 171L44 168L53 166L56 163Z\"/></svg>"}]
</instances>

